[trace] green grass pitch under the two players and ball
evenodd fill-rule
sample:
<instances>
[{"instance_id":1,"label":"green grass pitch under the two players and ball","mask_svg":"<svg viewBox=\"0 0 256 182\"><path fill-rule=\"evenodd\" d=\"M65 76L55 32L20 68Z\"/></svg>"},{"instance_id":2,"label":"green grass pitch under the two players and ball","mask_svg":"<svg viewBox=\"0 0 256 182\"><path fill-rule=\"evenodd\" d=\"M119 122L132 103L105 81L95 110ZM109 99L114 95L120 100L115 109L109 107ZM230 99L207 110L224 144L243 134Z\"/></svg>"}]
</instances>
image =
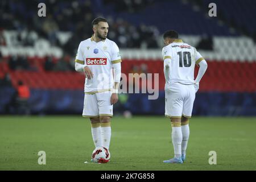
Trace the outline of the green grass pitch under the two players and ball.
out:
<instances>
[{"instance_id":1,"label":"green grass pitch under the two players and ball","mask_svg":"<svg viewBox=\"0 0 256 182\"><path fill-rule=\"evenodd\" d=\"M0 117L0 170L255 170L256 118L193 117L187 160L164 164L174 155L167 118L112 119L111 159L92 164L90 122L80 116ZM38 152L46 152L46 165ZM210 165L209 151L217 152Z\"/></svg>"}]
</instances>

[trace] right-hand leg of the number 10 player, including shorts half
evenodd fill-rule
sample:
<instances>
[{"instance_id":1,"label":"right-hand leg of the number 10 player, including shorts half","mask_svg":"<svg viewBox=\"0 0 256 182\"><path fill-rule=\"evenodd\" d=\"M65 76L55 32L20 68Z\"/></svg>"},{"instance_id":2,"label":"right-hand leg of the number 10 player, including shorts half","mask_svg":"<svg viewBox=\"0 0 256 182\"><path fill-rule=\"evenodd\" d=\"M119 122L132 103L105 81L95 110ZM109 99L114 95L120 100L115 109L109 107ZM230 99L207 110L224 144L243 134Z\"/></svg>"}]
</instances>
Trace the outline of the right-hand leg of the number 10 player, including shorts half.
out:
<instances>
[{"instance_id":1,"label":"right-hand leg of the number 10 player, including shorts half","mask_svg":"<svg viewBox=\"0 0 256 182\"><path fill-rule=\"evenodd\" d=\"M181 118L181 131L183 135L183 140L181 143L181 158L185 160L186 150L188 146L189 139L189 118L191 118L193 104L195 101L195 88L193 85L187 85L187 96L184 97L184 106Z\"/></svg>"}]
</instances>

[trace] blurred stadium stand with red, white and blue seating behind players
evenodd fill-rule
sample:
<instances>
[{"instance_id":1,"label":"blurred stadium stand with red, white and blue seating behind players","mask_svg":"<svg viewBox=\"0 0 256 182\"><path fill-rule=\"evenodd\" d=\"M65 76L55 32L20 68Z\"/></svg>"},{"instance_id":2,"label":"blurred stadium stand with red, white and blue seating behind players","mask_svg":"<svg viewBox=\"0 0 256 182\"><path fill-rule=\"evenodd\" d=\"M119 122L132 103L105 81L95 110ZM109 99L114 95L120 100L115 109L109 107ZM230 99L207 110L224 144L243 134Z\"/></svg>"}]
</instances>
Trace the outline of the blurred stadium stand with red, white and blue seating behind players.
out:
<instances>
[{"instance_id":1,"label":"blurred stadium stand with red, white and blue seating behind players","mask_svg":"<svg viewBox=\"0 0 256 182\"><path fill-rule=\"evenodd\" d=\"M84 75L75 72L73 60L79 42L92 35L90 22L103 15L109 20L109 39L121 48L122 73L142 73L146 65L147 73L159 74L159 99L129 94L126 109L132 113L163 114L162 34L174 29L208 61L193 113L255 115L255 2L230 1L216 1L220 17L214 18L203 8L208 0L44 1L47 18L37 16L39 1L2 1L0 79L9 75L11 86L1 84L0 114L6 114L19 80L31 88L32 114L81 114Z\"/></svg>"}]
</instances>

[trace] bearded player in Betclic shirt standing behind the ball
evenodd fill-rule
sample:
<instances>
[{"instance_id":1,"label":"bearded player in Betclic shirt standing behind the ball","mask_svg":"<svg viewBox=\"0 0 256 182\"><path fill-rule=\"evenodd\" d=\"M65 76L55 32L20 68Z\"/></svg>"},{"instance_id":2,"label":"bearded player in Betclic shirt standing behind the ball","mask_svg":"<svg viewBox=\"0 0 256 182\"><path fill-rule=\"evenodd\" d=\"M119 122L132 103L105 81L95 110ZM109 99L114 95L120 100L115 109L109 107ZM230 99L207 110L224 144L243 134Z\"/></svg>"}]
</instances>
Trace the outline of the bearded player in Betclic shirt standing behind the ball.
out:
<instances>
[{"instance_id":1,"label":"bearded player in Betclic shirt standing behind the ball","mask_svg":"<svg viewBox=\"0 0 256 182\"><path fill-rule=\"evenodd\" d=\"M117 44L106 38L109 30L107 20L96 18L92 26L93 36L79 44L75 69L85 74L82 116L90 118L94 146L109 149L110 121L113 104L118 101L121 78L121 56Z\"/></svg>"}]
</instances>

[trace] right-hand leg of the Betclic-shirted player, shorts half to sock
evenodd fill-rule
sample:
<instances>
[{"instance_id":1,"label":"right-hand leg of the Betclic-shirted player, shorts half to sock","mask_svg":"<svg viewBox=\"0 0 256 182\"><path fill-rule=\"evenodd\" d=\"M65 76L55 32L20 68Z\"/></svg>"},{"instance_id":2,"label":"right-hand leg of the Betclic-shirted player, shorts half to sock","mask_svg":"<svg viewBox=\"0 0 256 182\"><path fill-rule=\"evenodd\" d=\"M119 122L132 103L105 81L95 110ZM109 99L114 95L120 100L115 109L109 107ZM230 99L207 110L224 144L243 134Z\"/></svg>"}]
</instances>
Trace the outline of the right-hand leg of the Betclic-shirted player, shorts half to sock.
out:
<instances>
[{"instance_id":1,"label":"right-hand leg of the Betclic-shirted player, shorts half to sock","mask_svg":"<svg viewBox=\"0 0 256 182\"><path fill-rule=\"evenodd\" d=\"M113 116L113 105L110 103L110 92L97 93L98 109L101 122L102 146L109 148L111 139L111 118Z\"/></svg>"}]
</instances>

